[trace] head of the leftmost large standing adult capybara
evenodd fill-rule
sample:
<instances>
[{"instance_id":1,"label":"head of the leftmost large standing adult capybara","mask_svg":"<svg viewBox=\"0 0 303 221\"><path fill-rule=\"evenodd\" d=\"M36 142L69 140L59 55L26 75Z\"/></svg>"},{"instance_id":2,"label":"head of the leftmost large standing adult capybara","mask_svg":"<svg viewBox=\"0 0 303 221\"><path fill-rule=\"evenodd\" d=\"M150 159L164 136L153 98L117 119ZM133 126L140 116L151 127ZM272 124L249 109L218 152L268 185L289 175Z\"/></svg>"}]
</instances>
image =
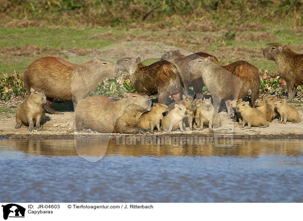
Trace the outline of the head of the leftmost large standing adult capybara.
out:
<instances>
[{"instance_id":1,"label":"head of the leftmost large standing adult capybara","mask_svg":"<svg viewBox=\"0 0 303 221\"><path fill-rule=\"evenodd\" d=\"M115 77L119 73L119 65L110 61L93 58L92 65L94 69L97 69L105 77Z\"/></svg>"}]
</instances>

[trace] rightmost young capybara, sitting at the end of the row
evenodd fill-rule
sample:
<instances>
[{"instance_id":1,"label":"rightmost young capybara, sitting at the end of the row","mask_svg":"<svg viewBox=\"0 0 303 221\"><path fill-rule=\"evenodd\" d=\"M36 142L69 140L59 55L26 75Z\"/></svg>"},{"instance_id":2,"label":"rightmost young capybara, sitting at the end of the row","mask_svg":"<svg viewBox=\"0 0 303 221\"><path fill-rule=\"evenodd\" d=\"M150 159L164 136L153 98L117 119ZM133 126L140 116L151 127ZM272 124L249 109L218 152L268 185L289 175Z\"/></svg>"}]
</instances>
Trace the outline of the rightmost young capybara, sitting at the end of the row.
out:
<instances>
[{"instance_id":1,"label":"rightmost young capybara, sitting at the end of the row","mask_svg":"<svg viewBox=\"0 0 303 221\"><path fill-rule=\"evenodd\" d=\"M300 122L300 117L297 109L291 105L285 104L285 101L278 99L275 102L275 109L280 114L280 122L286 123L290 121L293 123Z\"/></svg>"}]
</instances>

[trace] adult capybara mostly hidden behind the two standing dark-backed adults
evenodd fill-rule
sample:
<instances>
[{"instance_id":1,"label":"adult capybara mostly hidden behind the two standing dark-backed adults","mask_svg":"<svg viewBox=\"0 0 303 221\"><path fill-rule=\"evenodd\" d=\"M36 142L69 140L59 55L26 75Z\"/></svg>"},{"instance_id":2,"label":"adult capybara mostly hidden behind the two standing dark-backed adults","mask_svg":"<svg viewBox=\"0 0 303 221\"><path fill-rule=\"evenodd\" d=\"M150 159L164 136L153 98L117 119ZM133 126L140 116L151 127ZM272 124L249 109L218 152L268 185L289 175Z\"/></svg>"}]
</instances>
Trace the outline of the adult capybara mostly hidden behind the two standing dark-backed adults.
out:
<instances>
[{"instance_id":1,"label":"adult capybara mostly hidden behind the two standing dark-backed adults","mask_svg":"<svg viewBox=\"0 0 303 221\"><path fill-rule=\"evenodd\" d=\"M180 53L179 50L171 50L171 51L165 53L161 57L161 60L167 60L167 61L172 62L175 65L177 65L177 67L181 71L185 87L187 88L189 86L193 86L193 90L196 94L196 97L202 98L203 97L202 89L204 86L203 79L200 75L195 75L193 73L190 73L188 71L187 65L192 60L195 60L200 57L206 58L209 56L213 57L219 63L219 61L216 57L209 55L207 53L204 53L204 52L198 52L195 54L184 56Z\"/></svg>"}]
</instances>

